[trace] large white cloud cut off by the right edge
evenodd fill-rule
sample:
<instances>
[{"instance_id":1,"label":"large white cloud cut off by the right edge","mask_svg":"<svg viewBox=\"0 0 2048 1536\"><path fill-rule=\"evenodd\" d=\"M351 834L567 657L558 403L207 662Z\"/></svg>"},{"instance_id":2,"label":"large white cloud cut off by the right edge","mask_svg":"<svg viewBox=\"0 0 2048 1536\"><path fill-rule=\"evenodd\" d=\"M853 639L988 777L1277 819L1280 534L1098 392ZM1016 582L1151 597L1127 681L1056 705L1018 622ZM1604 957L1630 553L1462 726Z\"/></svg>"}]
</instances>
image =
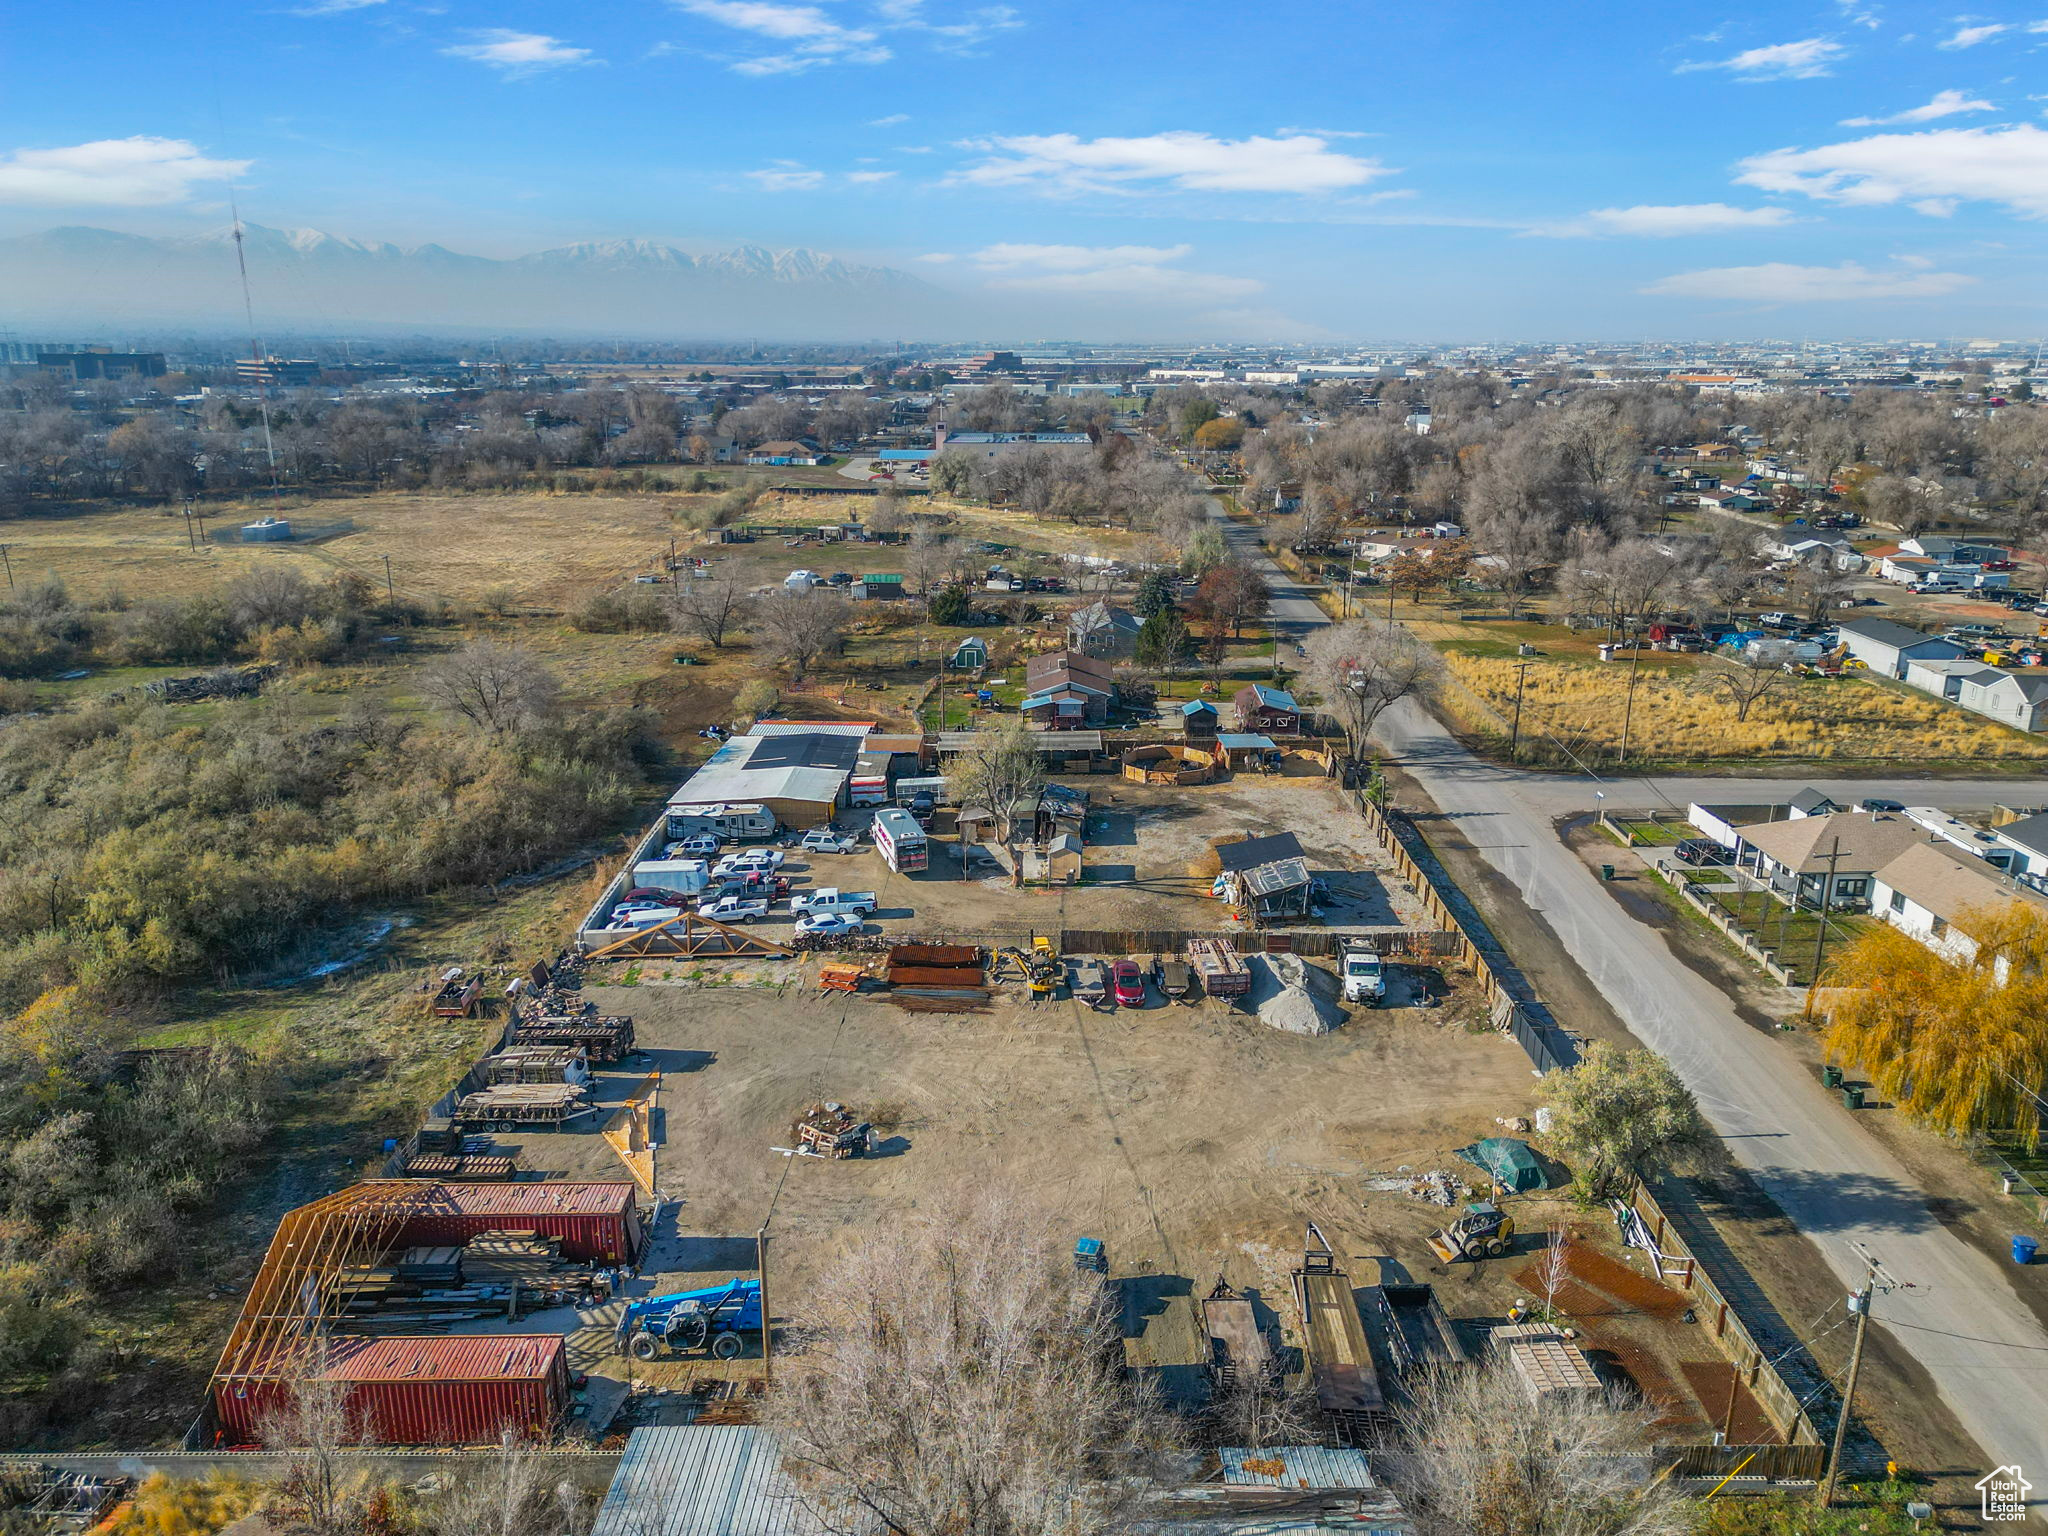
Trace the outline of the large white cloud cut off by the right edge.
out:
<instances>
[{"instance_id":1,"label":"large white cloud cut off by the right edge","mask_svg":"<svg viewBox=\"0 0 2048 1536\"><path fill-rule=\"evenodd\" d=\"M2048 217L2048 131L2032 123L1929 133L1872 133L1819 150L1772 150L1739 166L1739 182L1827 203L1956 199Z\"/></svg>"}]
</instances>

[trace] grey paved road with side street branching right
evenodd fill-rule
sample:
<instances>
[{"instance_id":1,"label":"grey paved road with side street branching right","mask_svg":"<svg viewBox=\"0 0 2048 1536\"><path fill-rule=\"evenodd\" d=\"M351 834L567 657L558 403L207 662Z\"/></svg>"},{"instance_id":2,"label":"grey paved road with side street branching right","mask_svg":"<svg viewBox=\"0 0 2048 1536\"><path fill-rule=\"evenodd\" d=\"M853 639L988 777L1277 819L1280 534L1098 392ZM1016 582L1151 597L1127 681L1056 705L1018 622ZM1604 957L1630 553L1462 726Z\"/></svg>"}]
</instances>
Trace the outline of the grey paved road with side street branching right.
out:
<instances>
[{"instance_id":1,"label":"grey paved road with side street branching right","mask_svg":"<svg viewBox=\"0 0 2048 1536\"><path fill-rule=\"evenodd\" d=\"M1255 535L1227 537L1274 588L1272 616L1286 627L1327 623L1323 610L1268 561ZM1997 1264L1952 1237L1927 1210L1907 1169L1790 1055L1737 1014L1729 997L1692 971L1649 926L1630 922L1552 819L1591 807L1591 786L1552 774L1522 774L1481 762L1423 709L1401 705L1382 719L1380 741L1401 758L1436 805L1556 932L1638 1040L1657 1049L1694 1090L1735 1157L1827 1257L1843 1286L1876 1253L1911 1290L1878 1298L1872 1317L1925 1366L1964 1430L1995 1464L2019 1462L2048 1495L2048 1329L2013 1292ZM1683 805L1694 788L1718 801L1786 791L1786 780L1657 780ZM1907 803L1987 805L2013 799L2001 784L1823 782L1829 793L1892 795ZM1624 791L1634 791L1624 793ZM1608 786L1612 805L1640 805L1640 780ZM1839 1313L1837 1313L1839 1317ZM1804 1319L1792 1319L1804 1323ZM1989 1468L1987 1468L1989 1470ZM2048 1516L2048 1497L2034 1511Z\"/></svg>"}]
</instances>

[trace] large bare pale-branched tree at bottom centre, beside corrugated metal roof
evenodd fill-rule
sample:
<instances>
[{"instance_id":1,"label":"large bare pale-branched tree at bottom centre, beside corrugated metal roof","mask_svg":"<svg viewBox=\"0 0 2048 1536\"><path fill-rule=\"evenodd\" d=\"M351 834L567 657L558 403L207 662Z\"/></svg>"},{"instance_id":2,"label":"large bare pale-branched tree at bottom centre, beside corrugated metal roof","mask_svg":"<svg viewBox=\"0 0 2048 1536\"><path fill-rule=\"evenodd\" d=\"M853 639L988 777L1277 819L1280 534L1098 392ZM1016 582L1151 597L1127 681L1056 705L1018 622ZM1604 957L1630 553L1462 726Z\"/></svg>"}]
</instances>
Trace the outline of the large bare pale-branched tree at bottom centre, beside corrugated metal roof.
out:
<instances>
[{"instance_id":1,"label":"large bare pale-branched tree at bottom centre, beside corrugated metal roof","mask_svg":"<svg viewBox=\"0 0 2048 1536\"><path fill-rule=\"evenodd\" d=\"M852 1245L766 1415L831 1532L1108 1536L1133 1528L1165 1415L1122 1380L1102 1284L1047 1212L942 1192Z\"/></svg>"}]
</instances>

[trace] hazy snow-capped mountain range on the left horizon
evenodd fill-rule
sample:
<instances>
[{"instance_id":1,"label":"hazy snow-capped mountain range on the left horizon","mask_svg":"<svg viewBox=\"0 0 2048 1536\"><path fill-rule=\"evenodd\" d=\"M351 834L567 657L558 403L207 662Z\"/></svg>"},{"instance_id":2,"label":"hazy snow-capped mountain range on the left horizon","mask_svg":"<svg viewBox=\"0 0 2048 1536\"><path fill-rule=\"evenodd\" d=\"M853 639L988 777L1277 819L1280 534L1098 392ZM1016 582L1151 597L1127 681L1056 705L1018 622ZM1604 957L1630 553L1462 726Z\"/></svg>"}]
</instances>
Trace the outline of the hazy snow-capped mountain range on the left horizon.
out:
<instances>
[{"instance_id":1,"label":"hazy snow-capped mountain range on the left horizon","mask_svg":"<svg viewBox=\"0 0 2048 1536\"><path fill-rule=\"evenodd\" d=\"M606 240L467 256L319 229L244 225L258 332L428 330L662 338L928 338L969 330L963 299L815 250L694 256ZM70 225L0 240L0 328L244 326L233 236Z\"/></svg>"}]
</instances>

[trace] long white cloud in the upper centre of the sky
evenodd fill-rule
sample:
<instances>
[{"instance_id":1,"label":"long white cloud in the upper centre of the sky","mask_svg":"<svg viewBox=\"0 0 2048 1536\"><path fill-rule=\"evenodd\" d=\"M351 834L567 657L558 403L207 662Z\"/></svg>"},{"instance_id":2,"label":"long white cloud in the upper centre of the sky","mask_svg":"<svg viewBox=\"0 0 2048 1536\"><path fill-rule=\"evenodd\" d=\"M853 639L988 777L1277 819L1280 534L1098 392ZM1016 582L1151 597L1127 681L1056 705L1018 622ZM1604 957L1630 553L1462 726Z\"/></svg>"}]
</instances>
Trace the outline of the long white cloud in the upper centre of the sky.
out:
<instances>
[{"instance_id":1,"label":"long white cloud in the upper centre of the sky","mask_svg":"<svg viewBox=\"0 0 2048 1536\"><path fill-rule=\"evenodd\" d=\"M993 152L954 180L979 186L1051 186L1069 193L1161 182L1186 193L1335 193L1386 176L1376 160L1337 154L1313 133L1219 139L1171 131L1143 139L1044 133L969 141Z\"/></svg>"}]
</instances>

